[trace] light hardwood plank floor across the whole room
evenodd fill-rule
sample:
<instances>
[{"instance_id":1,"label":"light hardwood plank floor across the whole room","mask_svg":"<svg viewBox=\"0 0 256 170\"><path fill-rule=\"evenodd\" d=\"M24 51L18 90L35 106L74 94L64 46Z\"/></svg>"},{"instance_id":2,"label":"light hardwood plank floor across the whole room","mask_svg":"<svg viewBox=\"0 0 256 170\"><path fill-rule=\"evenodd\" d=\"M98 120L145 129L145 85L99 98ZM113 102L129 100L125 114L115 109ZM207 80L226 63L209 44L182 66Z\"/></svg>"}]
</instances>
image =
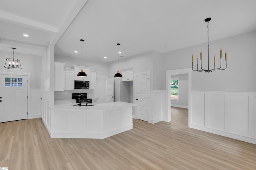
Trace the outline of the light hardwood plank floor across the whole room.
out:
<instances>
[{"instance_id":1,"label":"light hardwood plank floor across the whole room","mask_svg":"<svg viewBox=\"0 0 256 170\"><path fill-rule=\"evenodd\" d=\"M256 145L188 128L188 109L172 121L134 119L106 139L50 138L42 120L0 123L0 167L9 170L255 170Z\"/></svg>"}]
</instances>

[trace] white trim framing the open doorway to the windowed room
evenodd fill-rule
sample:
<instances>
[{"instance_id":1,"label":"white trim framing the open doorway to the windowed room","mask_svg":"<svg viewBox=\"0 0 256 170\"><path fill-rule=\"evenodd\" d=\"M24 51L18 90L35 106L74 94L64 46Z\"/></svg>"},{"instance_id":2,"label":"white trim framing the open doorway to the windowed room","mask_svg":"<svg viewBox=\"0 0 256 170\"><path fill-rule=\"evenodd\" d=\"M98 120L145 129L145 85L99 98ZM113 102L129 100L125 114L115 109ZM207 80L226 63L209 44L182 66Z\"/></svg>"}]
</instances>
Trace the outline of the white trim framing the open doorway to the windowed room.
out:
<instances>
[{"instance_id":1,"label":"white trim framing the open doorway to the windowed room","mask_svg":"<svg viewBox=\"0 0 256 170\"><path fill-rule=\"evenodd\" d=\"M191 119L191 91L192 91L192 68L182 68L177 70L166 70L166 91L168 95L166 95L166 119L164 121L171 121L171 104L170 104L170 80L171 75L175 74L186 74L188 73L188 122Z\"/></svg>"}]
</instances>

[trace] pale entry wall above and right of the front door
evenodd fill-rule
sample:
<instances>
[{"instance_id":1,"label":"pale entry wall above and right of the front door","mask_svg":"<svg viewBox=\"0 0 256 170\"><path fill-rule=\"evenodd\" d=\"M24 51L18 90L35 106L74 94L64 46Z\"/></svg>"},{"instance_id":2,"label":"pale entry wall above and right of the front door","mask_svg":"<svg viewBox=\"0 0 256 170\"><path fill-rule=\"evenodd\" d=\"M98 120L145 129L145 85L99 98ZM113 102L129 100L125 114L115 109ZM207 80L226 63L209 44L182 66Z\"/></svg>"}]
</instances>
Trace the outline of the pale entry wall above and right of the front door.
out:
<instances>
[{"instance_id":1,"label":"pale entry wall above and right of the front door","mask_svg":"<svg viewBox=\"0 0 256 170\"><path fill-rule=\"evenodd\" d=\"M31 89L41 89L41 70L42 70L42 57L35 55L25 55L15 53L14 59L19 59L22 66L21 70L7 69L4 68L6 58L12 58L13 52L0 51L0 71L12 71L12 72L31 72Z\"/></svg>"}]
</instances>

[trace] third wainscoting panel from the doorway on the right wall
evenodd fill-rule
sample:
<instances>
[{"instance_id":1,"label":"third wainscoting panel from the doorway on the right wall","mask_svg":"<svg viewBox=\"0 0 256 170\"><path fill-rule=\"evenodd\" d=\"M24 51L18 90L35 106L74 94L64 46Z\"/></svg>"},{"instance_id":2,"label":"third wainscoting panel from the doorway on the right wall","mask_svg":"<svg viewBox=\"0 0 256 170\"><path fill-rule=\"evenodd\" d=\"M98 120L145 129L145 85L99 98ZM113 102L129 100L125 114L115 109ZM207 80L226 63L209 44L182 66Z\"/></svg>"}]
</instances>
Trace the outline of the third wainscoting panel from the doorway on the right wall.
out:
<instances>
[{"instance_id":1,"label":"third wainscoting panel from the doorway on the right wall","mask_svg":"<svg viewBox=\"0 0 256 170\"><path fill-rule=\"evenodd\" d=\"M225 96L225 131L238 135L249 135L248 96Z\"/></svg>"}]
</instances>

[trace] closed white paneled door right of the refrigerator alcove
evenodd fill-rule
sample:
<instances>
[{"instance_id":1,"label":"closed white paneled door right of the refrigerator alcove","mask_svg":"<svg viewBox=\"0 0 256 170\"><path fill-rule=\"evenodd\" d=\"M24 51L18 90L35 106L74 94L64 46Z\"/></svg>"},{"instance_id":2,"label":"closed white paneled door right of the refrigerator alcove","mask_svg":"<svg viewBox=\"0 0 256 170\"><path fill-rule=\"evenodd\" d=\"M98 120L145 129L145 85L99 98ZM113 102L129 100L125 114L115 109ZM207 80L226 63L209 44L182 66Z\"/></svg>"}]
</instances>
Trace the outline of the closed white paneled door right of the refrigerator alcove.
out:
<instances>
[{"instance_id":1,"label":"closed white paneled door right of the refrigerator alcove","mask_svg":"<svg viewBox=\"0 0 256 170\"><path fill-rule=\"evenodd\" d=\"M135 74L135 104L138 104L136 118L148 121L148 102L150 93L150 74L141 72Z\"/></svg>"}]
</instances>

